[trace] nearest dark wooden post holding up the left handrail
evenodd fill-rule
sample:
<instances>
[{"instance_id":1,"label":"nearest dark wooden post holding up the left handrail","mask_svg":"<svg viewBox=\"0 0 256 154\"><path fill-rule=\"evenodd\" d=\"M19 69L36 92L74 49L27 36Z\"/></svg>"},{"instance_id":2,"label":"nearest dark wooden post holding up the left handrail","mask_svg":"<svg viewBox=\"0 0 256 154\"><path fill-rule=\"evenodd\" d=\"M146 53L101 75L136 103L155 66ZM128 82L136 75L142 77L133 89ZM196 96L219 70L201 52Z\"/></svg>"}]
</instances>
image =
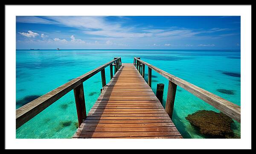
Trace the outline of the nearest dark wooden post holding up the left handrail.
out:
<instances>
[{"instance_id":1,"label":"nearest dark wooden post holding up the left handrail","mask_svg":"<svg viewBox=\"0 0 256 154\"><path fill-rule=\"evenodd\" d=\"M76 112L77 112L77 118L78 118L78 125L80 127L83 120L86 119L83 83L81 83L79 86L74 88L74 95L75 95L75 101L76 101Z\"/></svg>"}]
</instances>

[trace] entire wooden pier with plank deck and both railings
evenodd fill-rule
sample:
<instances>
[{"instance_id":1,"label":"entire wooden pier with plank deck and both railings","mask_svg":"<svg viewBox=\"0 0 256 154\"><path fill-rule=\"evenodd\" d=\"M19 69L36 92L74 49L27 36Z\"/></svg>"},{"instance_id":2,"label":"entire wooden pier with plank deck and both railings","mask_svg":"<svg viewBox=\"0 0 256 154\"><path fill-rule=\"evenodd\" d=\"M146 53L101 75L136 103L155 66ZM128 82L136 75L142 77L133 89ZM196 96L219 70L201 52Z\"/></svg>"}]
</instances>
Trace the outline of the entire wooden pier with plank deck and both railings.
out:
<instances>
[{"instance_id":1,"label":"entire wooden pier with plank deck and both railings","mask_svg":"<svg viewBox=\"0 0 256 154\"><path fill-rule=\"evenodd\" d=\"M148 67L148 83L144 80L145 65ZM105 68L108 66L111 81L106 84ZM157 96L151 90L152 70L169 80L165 108L162 106L164 85L157 87ZM83 82L99 72L102 78L101 95L87 114ZM172 122L177 86L240 122L241 108L238 105L140 58L134 58L133 64L122 64L119 57L18 108L16 129L73 90L79 122L73 138L182 138Z\"/></svg>"}]
</instances>

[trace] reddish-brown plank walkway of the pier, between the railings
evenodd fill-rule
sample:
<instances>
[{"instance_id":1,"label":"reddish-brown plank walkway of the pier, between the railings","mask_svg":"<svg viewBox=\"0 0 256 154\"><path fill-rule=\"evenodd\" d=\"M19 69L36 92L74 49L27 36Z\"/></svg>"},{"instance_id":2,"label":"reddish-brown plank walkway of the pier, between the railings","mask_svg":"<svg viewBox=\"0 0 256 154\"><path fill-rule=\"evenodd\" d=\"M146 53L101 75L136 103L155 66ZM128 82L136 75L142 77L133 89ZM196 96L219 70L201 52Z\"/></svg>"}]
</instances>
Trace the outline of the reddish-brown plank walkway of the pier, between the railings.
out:
<instances>
[{"instance_id":1,"label":"reddish-brown plank walkway of the pier, between the railings","mask_svg":"<svg viewBox=\"0 0 256 154\"><path fill-rule=\"evenodd\" d=\"M103 88L73 138L182 138L133 64Z\"/></svg>"}]
</instances>

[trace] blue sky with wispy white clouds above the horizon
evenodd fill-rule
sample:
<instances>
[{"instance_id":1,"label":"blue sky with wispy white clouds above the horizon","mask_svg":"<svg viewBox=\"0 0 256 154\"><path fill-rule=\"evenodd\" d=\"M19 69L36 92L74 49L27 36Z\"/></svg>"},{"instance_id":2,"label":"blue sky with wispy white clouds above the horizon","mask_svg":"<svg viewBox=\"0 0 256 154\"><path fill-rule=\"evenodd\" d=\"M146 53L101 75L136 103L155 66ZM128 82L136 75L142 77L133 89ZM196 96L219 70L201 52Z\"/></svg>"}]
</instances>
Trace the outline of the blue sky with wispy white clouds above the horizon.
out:
<instances>
[{"instance_id":1,"label":"blue sky with wispy white clouds above the horizon","mask_svg":"<svg viewBox=\"0 0 256 154\"><path fill-rule=\"evenodd\" d=\"M240 49L240 16L16 16L16 49Z\"/></svg>"}]
</instances>

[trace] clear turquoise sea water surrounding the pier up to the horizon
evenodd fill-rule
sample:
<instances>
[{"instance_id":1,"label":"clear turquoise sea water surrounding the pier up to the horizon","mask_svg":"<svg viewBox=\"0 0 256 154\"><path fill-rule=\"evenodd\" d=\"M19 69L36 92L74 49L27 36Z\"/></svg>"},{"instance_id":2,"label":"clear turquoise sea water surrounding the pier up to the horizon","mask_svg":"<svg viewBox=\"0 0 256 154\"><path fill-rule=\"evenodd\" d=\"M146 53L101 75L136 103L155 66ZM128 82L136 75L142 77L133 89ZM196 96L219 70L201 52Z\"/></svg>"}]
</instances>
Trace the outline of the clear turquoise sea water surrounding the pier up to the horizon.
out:
<instances>
[{"instance_id":1,"label":"clear turquoise sea water surrounding the pier up to the horizon","mask_svg":"<svg viewBox=\"0 0 256 154\"><path fill-rule=\"evenodd\" d=\"M113 57L122 57L122 63L132 63L135 56L240 105L240 50L16 50L16 109L111 61ZM145 67L146 80L147 70ZM109 67L105 69L105 73L108 82ZM165 102L168 80L152 71L154 92L157 83L165 84ZM87 113L99 97L101 87L100 73L84 82ZM184 138L204 138L185 119L188 114L197 110L218 112L201 99L177 87L173 122ZM76 132L76 123L72 90L18 128L16 138L71 138ZM233 130L240 137L240 123L235 122Z\"/></svg>"}]
</instances>

